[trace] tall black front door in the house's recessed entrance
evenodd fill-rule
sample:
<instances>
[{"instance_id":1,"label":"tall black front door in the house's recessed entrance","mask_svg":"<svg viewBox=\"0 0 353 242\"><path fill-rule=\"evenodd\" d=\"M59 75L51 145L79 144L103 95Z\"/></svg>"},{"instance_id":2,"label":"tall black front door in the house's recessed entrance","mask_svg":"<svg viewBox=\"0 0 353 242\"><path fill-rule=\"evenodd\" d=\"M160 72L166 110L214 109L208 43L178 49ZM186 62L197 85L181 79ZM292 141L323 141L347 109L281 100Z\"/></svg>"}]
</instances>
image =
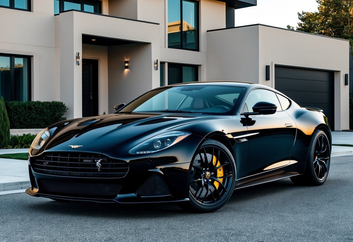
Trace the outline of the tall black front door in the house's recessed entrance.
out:
<instances>
[{"instance_id":1,"label":"tall black front door in the house's recessed entrance","mask_svg":"<svg viewBox=\"0 0 353 242\"><path fill-rule=\"evenodd\" d=\"M98 60L82 59L82 117L98 115Z\"/></svg>"}]
</instances>

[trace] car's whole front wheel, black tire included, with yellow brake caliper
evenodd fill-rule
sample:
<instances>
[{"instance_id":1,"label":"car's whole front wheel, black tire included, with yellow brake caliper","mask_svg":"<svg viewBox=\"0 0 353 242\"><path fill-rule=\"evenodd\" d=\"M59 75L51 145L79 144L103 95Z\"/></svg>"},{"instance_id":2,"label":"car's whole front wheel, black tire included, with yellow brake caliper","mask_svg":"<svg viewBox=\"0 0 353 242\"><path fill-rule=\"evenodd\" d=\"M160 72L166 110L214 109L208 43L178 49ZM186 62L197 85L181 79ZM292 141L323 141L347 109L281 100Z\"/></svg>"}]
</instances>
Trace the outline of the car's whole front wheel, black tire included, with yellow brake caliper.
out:
<instances>
[{"instance_id":1,"label":"car's whole front wheel, black tire included, with yellow brake caliper","mask_svg":"<svg viewBox=\"0 0 353 242\"><path fill-rule=\"evenodd\" d=\"M181 208L213 212L231 197L235 185L234 158L225 145L206 140L197 150L190 168L189 201Z\"/></svg>"}]
</instances>

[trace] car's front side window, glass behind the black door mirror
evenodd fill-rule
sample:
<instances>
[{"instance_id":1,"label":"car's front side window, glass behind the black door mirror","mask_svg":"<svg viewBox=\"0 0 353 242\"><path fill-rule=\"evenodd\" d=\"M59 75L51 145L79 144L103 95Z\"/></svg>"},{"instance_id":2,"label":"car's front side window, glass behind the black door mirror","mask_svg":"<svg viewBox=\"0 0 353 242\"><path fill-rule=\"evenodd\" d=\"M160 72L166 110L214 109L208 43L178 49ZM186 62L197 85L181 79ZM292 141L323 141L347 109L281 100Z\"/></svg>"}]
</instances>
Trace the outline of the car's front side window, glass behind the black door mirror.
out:
<instances>
[{"instance_id":1,"label":"car's front side window, glass behind the black door mirror","mask_svg":"<svg viewBox=\"0 0 353 242\"><path fill-rule=\"evenodd\" d=\"M255 89L249 93L249 95L246 97L245 105L247 106L247 109L249 112L252 112L252 107L255 105L257 102L270 102L273 104L276 104L277 106L277 111L282 111L281 104L278 101L278 98L276 96L276 93L270 90L265 90L265 89Z\"/></svg>"}]
</instances>

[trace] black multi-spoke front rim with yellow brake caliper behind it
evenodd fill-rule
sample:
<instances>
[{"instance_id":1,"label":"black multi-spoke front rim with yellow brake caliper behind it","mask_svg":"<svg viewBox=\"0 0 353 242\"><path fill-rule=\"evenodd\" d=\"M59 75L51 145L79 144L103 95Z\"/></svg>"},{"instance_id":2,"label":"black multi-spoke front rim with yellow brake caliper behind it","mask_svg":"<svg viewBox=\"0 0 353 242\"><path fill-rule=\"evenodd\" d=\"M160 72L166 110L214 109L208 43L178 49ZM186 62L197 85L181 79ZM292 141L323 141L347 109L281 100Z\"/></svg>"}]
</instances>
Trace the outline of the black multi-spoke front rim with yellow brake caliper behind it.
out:
<instances>
[{"instance_id":1,"label":"black multi-spoke front rim with yellow brake caliper behind it","mask_svg":"<svg viewBox=\"0 0 353 242\"><path fill-rule=\"evenodd\" d=\"M227 196L233 181L233 166L225 151L217 146L202 147L193 161L190 194L200 204L218 204Z\"/></svg>"}]
</instances>

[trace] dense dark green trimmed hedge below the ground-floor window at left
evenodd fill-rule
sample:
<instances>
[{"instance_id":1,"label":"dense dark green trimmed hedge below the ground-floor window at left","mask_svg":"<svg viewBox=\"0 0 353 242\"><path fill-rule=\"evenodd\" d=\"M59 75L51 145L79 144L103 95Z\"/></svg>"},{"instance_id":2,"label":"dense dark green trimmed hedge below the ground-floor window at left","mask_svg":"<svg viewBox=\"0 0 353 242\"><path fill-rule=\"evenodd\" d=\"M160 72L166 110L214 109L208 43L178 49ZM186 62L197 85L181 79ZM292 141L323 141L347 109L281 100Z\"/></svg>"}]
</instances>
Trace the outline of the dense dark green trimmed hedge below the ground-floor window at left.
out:
<instances>
[{"instance_id":1,"label":"dense dark green trimmed hedge below the ground-floor window at left","mask_svg":"<svg viewBox=\"0 0 353 242\"><path fill-rule=\"evenodd\" d=\"M63 102L10 101L5 102L10 128L45 128L65 120L67 107Z\"/></svg>"}]
</instances>

